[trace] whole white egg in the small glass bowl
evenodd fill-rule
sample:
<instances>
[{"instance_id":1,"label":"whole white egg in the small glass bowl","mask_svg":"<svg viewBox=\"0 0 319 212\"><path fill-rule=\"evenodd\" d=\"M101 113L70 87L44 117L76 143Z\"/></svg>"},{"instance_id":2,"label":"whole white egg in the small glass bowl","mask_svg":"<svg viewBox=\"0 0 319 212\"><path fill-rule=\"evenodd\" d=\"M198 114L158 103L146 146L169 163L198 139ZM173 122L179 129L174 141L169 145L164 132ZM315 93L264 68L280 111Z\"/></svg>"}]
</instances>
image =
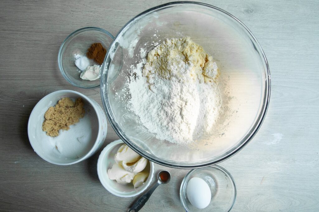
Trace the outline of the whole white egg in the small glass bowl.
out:
<instances>
[{"instance_id":1,"label":"whole white egg in the small glass bowl","mask_svg":"<svg viewBox=\"0 0 319 212\"><path fill-rule=\"evenodd\" d=\"M211 189L201 178L193 177L186 187L187 198L196 208L206 208L211 202Z\"/></svg>"}]
</instances>

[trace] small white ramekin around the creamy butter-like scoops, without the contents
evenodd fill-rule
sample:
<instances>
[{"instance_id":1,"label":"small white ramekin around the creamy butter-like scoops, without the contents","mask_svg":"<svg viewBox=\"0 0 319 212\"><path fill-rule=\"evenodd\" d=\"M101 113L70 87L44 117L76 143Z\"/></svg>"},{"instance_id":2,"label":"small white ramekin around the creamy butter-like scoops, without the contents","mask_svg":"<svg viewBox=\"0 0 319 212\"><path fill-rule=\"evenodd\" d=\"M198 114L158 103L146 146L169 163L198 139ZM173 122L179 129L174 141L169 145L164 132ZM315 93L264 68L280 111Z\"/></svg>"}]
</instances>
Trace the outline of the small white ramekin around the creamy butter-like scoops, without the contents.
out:
<instances>
[{"instance_id":1,"label":"small white ramekin around the creamy butter-like scoops, without the contents","mask_svg":"<svg viewBox=\"0 0 319 212\"><path fill-rule=\"evenodd\" d=\"M154 175L154 163L149 161L150 165L150 174L146 180L146 182L134 189L132 183L128 184L119 184L114 180L108 178L108 169L112 168L115 163L114 156L117 150L122 146L122 140L116 140L112 143L109 143L104 150L101 152L99 160L98 160L98 175L102 185L108 190L111 194L119 197L132 197L138 194L141 194L145 189L150 185L153 175Z\"/></svg>"}]
</instances>

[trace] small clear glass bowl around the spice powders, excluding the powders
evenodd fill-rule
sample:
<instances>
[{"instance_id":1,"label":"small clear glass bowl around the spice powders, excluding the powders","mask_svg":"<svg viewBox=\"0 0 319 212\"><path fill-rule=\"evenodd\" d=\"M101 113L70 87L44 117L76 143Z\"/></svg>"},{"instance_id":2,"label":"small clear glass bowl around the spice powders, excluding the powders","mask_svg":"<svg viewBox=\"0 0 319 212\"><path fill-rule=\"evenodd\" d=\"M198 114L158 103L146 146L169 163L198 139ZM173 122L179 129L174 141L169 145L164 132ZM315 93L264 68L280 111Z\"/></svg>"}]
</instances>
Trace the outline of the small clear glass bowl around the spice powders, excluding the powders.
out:
<instances>
[{"instance_id":1,"label":"small clear glass bowl around the spice powders, excluding the powders","mask_svg":"<svg viewBox=\"0 0 319 212\"><path fill-rule=\"evenodd\" d=\"M63 41L59 50L58 63L62 76L70 84L79 88L98 88L100 79L89 81L80 78L81 71L74 63L75 55L86 55L87 49L93 43L101 43L108 50L113 39L111 33L98 27L85 27L71 33Z\"/></svg>"}]
</instances>

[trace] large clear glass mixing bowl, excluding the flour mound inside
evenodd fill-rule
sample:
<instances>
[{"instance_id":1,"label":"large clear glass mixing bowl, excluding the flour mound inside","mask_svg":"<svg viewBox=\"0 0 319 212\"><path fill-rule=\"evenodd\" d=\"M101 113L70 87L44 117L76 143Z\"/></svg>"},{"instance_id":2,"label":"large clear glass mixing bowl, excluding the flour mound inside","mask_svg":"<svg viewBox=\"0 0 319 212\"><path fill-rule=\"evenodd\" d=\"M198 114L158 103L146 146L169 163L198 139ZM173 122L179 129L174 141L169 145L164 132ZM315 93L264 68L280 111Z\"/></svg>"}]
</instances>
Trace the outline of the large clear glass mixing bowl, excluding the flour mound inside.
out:
<instances>
[{"instance_id":1,"label":"large clear glass mixing bowl, excluding the flour mound inside","mask_svg":"<svg viewBox=\"0 0 319 212\"><path fill-rule=\"evenodd\" d=\"M189 36L213 55L225 107L215 134L187 146L148 132L129 109L130 93L125 89L141 48L149 51L166 38L181 36ZM237 18L208 4L172 2L142 12L119 31L103 64L101 96L110 124L130 148L165 166L199 168L233 156L256 134L269 104L270 72L261 46Z\"/></svg>"}]
</instances>

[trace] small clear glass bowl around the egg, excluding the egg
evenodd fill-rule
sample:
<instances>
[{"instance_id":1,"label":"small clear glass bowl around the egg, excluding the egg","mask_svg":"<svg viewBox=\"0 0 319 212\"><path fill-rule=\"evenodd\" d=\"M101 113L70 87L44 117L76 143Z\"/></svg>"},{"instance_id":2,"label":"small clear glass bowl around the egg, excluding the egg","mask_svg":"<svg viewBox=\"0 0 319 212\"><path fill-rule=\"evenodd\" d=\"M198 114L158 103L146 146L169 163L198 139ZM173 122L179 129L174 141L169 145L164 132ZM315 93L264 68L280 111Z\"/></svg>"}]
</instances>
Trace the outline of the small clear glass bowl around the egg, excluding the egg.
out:
<instances>
[{"instance_id":1,"label":"small clear glass bowl around the egg, excluding the egg","mask_svg":"<svg viewBox=\"0 0 319 212\"><path fill-rule=\"evenodd\" d=\"M211 202L206 208L199 209L194 207L187 198L187 184L193 177L203 179L211 189ZM218 165L193 169L186 174L182 181L180 198L182 205L187 212L228 212L233 208L236 200L235 181L226 169Z\"/></svg>"}]
</instances>

